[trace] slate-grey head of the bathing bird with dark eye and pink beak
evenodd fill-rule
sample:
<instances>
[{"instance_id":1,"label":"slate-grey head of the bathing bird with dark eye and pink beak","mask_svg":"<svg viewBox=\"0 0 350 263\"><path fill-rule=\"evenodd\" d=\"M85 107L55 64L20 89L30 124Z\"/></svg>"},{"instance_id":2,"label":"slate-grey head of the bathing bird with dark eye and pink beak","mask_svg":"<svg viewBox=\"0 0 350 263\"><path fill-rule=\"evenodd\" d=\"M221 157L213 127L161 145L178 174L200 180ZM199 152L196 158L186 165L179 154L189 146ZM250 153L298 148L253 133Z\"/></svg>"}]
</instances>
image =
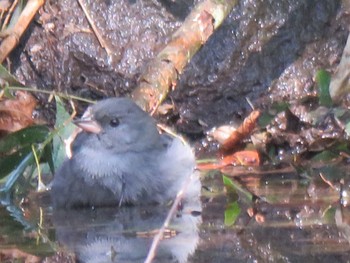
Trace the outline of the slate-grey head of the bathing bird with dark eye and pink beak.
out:
<instances>
[{"instance_id":1,"label":"slate-grey head of the bathing bird with dark eye and pink beak","mask_svg":"<svg viewBox=\"0 0 350 263\"><path fill-rule=\"evenodd\" d=\"M115 152L144 151L159 141L154 119L128 98L110 98L74 122L88 138Z\"/></svg>"}]
</instances>

